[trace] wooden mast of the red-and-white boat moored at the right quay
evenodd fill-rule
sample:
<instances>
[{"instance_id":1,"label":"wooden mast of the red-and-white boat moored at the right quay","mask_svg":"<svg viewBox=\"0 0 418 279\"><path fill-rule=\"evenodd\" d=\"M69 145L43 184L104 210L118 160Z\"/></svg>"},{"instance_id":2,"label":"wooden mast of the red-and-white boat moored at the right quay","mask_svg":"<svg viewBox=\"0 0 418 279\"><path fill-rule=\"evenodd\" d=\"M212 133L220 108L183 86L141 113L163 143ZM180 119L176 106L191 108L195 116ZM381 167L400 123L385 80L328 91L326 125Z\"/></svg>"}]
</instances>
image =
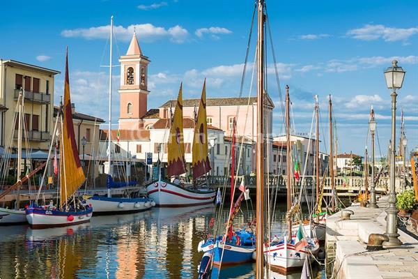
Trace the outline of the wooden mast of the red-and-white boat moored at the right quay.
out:
<instances>
[{"instance_id":1,"label":"wooden mast of the red-and-white boat moored at the right quay","mask_svg":"<svg viewBox=\"0 0 418 279\"><path fill-rule=\"evenodd\" d=\"M290 116L290 103L291 97L289 96L289 86L286 85L286 171L287 171L287 182L286 182L286 197L287 197L287 212L291 211L292 206L292 176L291 176L291 116ZM292 239L292 218L289 216L288 220L288 238Z\"/></svg>"}]
</instances>

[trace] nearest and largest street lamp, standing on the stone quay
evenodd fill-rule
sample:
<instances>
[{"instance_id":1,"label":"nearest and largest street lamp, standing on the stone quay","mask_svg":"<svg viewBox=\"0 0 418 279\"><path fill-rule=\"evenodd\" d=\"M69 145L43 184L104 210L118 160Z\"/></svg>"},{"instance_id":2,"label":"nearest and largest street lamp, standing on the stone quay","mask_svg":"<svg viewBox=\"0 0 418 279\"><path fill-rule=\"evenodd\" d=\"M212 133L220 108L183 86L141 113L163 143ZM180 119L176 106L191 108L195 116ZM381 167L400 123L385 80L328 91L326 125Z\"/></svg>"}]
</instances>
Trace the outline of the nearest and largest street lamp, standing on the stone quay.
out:
<instances>
[{"instance_id":1,"label":"nearest and largest street lamp, standing on the stone quay","mask_svg":"<svg viewBox=\"0 0 418 279\"><path fill-rule=\"evenodd\" d=\"M390 190L389 190L389 206L387 206L387 221L385 234L389 237L389 241L383 242L383 246L401 246L402 242L398 239L398 228L396 221L398 219L398 209L396 209L396 192L395 192L395 152L396 152L396 89L401 89L405 71L399 67L398 61L392 61L392 67L385 70L385 80L387 89L392 89L390 96L392 97L392 136L391 136L391 156L390 156Z\"/></svg>"}]
</instances>

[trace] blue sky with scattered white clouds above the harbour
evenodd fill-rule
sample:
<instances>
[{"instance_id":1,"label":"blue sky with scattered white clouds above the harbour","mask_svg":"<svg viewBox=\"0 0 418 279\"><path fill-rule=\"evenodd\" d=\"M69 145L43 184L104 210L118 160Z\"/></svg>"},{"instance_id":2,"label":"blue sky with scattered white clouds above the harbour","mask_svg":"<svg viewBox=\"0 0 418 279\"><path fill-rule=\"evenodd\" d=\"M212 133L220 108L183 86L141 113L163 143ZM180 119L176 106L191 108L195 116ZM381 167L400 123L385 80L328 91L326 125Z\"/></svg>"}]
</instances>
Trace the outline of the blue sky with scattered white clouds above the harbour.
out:
<instances>
[{"instance_id":1,"label":"blue sky with scattered white clouds above the harbour","mask_svg":"<svg viewBox=\"0 0 418 279\"><path fill-rule=\"evenodd\" d=\"M176 98L240 95L240 82L254 10L252 0L231 1L6 1L0 21L0 58L61 70L55 103L63 93L65 47L69 48L72 102L78 112L108 119L109 22L114 15L114 65L125 54L134 29L151 63L148 109ZM377 156L390 137L390 91L383 71L393 59L406 70L398 91L397 133L405 114L408 151L418 146L417 1L267 1L268 93L274 101L273 133L281 134L280 90L290 86L295 133L309 133L318 94L323 151L327 145L327 102L332 94L338 151L364 154L371 106L378 122ZM242 96L251 87L254 29ZM273 47L271 47L271 45ZM118 119L118 77L114 69L112 123ZM397 136L398 138L398 136Z\"/></svg>"}]
</instances>

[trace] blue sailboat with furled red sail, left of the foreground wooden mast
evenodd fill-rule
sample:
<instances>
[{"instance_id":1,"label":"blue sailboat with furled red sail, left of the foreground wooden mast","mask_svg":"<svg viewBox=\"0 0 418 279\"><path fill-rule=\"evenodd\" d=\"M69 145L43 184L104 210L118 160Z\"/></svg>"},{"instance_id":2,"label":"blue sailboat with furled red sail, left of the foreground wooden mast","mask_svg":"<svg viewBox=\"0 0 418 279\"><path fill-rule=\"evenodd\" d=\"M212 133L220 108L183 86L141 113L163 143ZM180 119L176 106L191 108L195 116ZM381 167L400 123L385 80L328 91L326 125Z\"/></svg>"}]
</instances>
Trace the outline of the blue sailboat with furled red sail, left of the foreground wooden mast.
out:
<instances>
[{"instance_id":1,"label":"blue sailboat with furled red sail, left of the foreground wooden mast","mask_svg":"<svg viewBox=\"0 0 418 279\"><path fill-rule=\"evenodd\" d=\"M256 236L251 229L240 229L234 232L233 219L238 211L242 200L249 199L248 190L244 184L240 186L240 196L233 202L235 195L235 128L236 122L233 121L232 145L231 145L231 207L229 209L229 217L227 220L226 233L216 238L209 237L199 243L198 251L203 251L204 259L210 258L210 264L216 266L242 264L244 262L253 261L253 253L256 250ZM247 195L246 195L247 194ZM222 207L219 208L222 210ZM204 264L203 264L204 266ZM205 269L206 271L206 269ZM202 276L203 277L203 276Z\"/></svg>"}]
</instances>

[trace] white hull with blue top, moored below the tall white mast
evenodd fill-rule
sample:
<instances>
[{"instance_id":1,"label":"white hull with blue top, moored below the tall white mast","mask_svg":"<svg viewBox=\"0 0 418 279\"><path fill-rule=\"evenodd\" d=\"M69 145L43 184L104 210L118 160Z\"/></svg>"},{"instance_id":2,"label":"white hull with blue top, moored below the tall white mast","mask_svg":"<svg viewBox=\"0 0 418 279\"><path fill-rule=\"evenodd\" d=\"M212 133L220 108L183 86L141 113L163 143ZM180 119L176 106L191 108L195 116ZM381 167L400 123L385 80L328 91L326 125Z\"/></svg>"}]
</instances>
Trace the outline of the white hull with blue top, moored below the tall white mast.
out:
<instances>
[{"instance_id":1,"label":"white hull with blue top, moored below the tall white mast","mask_svg":"<svg viewBox=\"0 0 418 279\"><path fill-rule=\"evenodd\" d=\"M87 202L93 207L93 215L136 213L155 206L155 202L144 198L100 197L100 199L87 199Z\"/></svg>"}]
</instances>

